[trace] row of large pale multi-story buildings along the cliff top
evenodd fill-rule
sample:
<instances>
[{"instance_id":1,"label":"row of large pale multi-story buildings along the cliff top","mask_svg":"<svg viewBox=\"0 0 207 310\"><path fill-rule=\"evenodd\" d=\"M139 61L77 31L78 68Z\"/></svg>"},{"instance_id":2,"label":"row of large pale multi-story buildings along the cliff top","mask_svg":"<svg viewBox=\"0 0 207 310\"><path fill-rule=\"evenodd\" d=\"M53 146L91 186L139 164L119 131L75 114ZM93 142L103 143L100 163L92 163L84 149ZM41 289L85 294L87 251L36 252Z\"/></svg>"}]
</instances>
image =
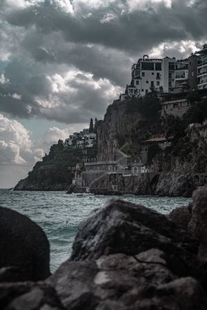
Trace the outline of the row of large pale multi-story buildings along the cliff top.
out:
<instances>
[{"instance_id":1,"label":"row of large pale multi-story buildings along the cliff top","mask_svg":"<svg viewBox=\"0 0 207 310\"><path fill-rule=\"evenodd\" d=\"M150 59L144 55L132 65L132 79L121 100L145 96L152 89L163 93L204 90L207 88L207 44L188 59L175 57Z\"/></svg>"}]
</instances>

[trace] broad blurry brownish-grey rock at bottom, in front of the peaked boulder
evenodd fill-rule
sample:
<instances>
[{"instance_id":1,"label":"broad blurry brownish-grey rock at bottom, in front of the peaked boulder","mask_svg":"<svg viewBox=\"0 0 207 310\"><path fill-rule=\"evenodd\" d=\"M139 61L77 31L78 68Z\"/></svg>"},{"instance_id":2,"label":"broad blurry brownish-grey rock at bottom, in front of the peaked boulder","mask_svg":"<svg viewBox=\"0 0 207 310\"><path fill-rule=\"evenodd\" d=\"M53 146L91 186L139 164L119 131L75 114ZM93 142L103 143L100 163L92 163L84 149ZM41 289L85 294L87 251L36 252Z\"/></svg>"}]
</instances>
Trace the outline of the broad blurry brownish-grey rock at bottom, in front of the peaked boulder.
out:
<instances>
[{"instance_id":1,"label":"broad blurry brownish-grey rock at bottom, in front of the peaked boulder","mask_svg":"<svg viewBox=\"0 0 207 310\"><path fill-rule=\"evenodd\" d=\"M165 256L150 249L137 256L101 256L93 262L68 260L48 283L63 307L71 310L207 309L199 283L193 278L176 279Z\"/></svg>"}]
</instances>

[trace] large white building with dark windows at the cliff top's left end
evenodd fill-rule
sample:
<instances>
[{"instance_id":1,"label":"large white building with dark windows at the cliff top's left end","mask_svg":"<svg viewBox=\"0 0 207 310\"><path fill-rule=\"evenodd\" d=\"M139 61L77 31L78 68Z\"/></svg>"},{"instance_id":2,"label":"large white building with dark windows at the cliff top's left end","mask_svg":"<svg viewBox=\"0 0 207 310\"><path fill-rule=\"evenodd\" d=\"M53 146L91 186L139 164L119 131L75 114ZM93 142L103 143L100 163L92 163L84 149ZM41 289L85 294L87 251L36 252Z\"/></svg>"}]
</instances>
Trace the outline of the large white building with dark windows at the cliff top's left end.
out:
<instances>
[{"instance_id":1,"label":"large white building with dark windows at the cliff top's left end","mask_svg":"<svg viewBox=\"0 0 207 310\"><path fill-rule=\"evenodd\" d=\"M175 58L149 59L144 55L132 65L132 81L127 85L128 96L144 96L152 89L171 92L175 87Z\"/></svg>"}]
</instances>

